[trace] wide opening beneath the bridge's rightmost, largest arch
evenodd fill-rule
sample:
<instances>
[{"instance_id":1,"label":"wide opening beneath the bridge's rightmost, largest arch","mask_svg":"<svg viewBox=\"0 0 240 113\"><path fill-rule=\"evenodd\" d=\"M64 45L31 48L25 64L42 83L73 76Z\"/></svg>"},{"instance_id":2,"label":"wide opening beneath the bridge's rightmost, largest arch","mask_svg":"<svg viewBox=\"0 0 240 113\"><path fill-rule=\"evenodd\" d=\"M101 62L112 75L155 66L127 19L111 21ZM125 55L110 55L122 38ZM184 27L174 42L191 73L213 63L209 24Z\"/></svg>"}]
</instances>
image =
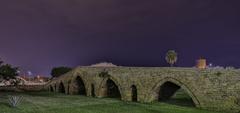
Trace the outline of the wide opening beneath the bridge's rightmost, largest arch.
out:
<instances>
[{"instance_id":1,"label":"wide opening beneath the bridge's rightmost, largest arch","mask_svg":"<svg viewBox=\"0 0 240 113\"><path fill-rule=\"evenodd\" d=\"M173 82L165 82L160 87L158 101L179 106L195 107L188 93Z\"/></svg>"}]
</instances>

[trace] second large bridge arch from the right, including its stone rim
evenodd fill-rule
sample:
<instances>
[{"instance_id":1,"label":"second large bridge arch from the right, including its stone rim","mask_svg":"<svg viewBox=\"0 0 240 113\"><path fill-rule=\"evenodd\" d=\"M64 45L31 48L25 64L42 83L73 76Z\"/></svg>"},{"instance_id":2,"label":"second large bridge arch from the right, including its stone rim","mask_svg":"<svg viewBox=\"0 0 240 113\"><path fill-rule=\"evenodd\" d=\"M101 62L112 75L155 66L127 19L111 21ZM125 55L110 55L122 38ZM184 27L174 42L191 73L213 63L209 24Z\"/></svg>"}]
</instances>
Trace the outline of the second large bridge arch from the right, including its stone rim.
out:
<instances>
[{"instance_id":1,"label":"second large bridge arch from the right, including its stone rim","mask_svg":"<svg viewBox=\"0 0 240 113\"><path fill-rule=\"evenodd\" d=\"M98 88L99 97L112 97L122 100L122 89L119 82L113 77L104 78Z\"/></svg>"}]
</instances>

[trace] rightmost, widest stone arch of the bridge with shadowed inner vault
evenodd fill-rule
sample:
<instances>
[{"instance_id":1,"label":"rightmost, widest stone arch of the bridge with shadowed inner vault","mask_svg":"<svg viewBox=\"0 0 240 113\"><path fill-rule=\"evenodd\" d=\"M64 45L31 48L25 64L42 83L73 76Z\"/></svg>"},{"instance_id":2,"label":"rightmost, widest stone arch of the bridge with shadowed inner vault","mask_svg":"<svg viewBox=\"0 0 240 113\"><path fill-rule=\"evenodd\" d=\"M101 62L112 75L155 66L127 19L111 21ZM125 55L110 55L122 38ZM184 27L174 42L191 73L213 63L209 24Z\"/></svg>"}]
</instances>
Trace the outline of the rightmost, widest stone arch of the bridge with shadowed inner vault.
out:
<instances>
[{"instance_id":1,"label":"rightmost, widest stone arch of the bridge with shadowed inner vault","mask_svg":"<svg viewBox=\"0 0 240 113\"><path fill-rule=\"evenodd\" d=\"M166 91L166 88L171 88L171 89L168 89L168 92L164 92L164 90ZM200 107L200 102L195 96L195 94L192 92L192 89L190 89L183 82L180 82L179 80L174 78L164 78L160 80L154 86L150 95L152 95L151 98L153 98L154 101L159 101L164 98L165 99L170 98L180 88L182 88L191 97L196 107ZM160 96L163 96L164 98Z\"/></svg>"}]
</instances>

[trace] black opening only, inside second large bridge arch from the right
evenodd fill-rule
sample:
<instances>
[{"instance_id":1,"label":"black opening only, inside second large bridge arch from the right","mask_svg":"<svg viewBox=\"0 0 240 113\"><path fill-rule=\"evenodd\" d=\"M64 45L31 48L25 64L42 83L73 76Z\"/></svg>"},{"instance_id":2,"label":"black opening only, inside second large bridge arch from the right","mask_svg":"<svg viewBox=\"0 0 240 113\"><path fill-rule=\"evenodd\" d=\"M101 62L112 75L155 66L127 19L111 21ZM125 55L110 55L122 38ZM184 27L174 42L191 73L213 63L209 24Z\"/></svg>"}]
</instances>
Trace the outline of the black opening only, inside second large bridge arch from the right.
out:
<instances>
[{"instance_id":1,"label":"black opening only, inside second large bridge arch from the right","mask_svg":"<svg viewBox=\"0 0 240 113\"><path fill-rule=\"evenodd\" d=\"M111 79L107 80L107 97L121 99L121 94L118 86Z\"/></svg>"}]
</instances>

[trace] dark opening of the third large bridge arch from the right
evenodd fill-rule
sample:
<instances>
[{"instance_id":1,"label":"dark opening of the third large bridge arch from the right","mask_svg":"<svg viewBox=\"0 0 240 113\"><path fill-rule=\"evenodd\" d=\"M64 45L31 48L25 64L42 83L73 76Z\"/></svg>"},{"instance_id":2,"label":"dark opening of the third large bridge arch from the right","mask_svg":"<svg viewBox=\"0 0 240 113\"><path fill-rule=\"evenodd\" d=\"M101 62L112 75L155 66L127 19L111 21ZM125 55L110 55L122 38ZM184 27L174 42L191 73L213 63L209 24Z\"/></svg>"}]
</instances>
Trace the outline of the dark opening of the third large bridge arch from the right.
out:
<instances>
[{"instance_id":1,"label":"dark opening of the third large bridge arch from the right","mask_svg":"<svg viewBox=\"0 0 240 113\"><path fill-rule=\"evenodd\" d=\"M76 85L76 89L77 89L77 94L79 95L86 95L86 88L85 88L85 84L82 80L82 78L80 76L78 76L75 80L75 85Z\"/></svg>"}]
</instances>

